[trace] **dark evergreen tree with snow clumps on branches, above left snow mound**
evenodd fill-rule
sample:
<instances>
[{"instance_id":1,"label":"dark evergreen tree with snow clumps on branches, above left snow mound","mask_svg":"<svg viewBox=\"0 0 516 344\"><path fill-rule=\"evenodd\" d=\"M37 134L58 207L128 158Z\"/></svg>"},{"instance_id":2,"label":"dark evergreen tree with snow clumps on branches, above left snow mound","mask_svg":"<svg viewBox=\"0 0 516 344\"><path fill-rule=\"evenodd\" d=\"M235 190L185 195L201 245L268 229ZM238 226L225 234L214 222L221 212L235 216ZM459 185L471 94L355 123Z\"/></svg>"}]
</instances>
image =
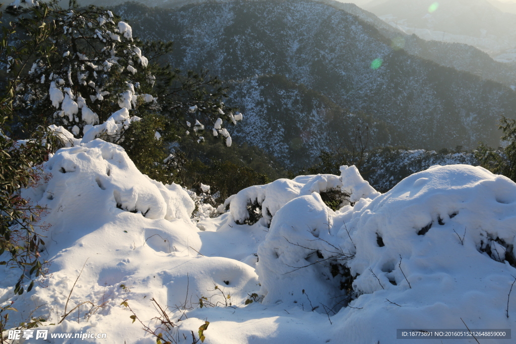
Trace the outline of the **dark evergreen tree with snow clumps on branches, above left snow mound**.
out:
<instances>
[{"instance_id":1,"label":"dark evergreen tree with snow clumps on branches, above left snow mound","mask_svg":"<svg viewBox=\"0 0 516 344\"><path fill-rule=\"evenodd\" d=\"M18 0L7 10L17 20L3 57L21 123L52 125L68 144L120 143L130 155L140 141L200 142L205 129L231 145L225 124L242 115L224 106L216 77L160 63L172 44L141 42L111 11L57 3ZM159 151L165 154L163 145Z\"/></svg>"}]
</instances>

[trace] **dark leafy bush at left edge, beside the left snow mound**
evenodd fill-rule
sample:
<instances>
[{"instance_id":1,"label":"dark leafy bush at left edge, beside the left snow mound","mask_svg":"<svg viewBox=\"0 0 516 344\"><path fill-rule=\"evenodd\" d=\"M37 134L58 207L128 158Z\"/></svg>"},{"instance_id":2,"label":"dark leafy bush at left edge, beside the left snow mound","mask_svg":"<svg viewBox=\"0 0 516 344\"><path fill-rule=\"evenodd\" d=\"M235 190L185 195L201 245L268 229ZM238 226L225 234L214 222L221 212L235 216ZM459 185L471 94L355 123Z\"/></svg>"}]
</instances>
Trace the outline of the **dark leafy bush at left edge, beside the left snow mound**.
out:
<instances>
[{"instance_id":1,"label":"dark leafy bush at left edge, beside the left snow mound","mask_svg":"<svg viewBox=\"0 0 516 344\"><path fill-rule=\"evenodd\" d=\"M1 124L4 121L0 119ZM34 229L46 228L41 220L46 208L20 194L22 188L35 187L49 178L39 165L48 153L47 147L39 143L40 135L38 132L31 140L18 142L5 136L0 128L0 256L9 253L9 257L0 259L0 265L20 268L15 293L23 293L24 283L44 272L39 256L44 240L42 233Z\"/></svg>"}]
</instances>

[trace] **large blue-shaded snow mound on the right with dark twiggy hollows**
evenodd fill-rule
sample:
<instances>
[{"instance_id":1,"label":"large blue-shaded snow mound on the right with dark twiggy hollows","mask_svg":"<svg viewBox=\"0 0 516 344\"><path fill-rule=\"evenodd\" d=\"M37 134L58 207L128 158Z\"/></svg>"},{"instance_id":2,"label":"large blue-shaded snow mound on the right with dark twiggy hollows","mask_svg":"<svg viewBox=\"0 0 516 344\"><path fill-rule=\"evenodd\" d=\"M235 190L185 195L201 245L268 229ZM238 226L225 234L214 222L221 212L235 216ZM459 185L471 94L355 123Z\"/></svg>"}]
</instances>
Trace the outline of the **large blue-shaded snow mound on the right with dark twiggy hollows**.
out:
<instances>
[{"instance_id":1,"label":"large blue-shaded snow mound on the right with dark twiggy hollows","mask_svg":"<svg viewBox=\"0 0 516 344\"><path fill-rule=\"evenodd\" d=\"M480 167L434 166L340 211L315 192L286 203L256 272L264 304L335 315L349 342L384 342L370 325L380 323L461 329L462 317L509 329L515 237L516 184Z\"/></svg>"}]
</instances>

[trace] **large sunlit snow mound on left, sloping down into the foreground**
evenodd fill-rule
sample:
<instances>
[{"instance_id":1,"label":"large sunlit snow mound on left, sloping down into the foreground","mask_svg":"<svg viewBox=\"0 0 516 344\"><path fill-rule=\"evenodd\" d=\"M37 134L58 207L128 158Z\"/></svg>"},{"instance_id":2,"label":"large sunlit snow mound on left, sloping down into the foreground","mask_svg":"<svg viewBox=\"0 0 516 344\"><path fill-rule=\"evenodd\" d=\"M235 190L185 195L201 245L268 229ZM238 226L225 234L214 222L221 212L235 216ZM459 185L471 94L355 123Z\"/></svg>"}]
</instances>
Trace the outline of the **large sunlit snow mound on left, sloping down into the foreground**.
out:
<instances>
[{"instance_id":1,"label":"large sunlit snow mound on left, sloping down into the foreground","mask_svg":"<svg viewBox=\"0 0 516 344\"><path fill-rule=\"evenodd\" d=\"M148 321L154 316L154 309L147 307L151 298L180 305L185 293L189 300L221 285L232 302L243 303L248 293L257 291L250 266L197 253L202 244L199 228L190 219L195 204L189 194L139 172L119 145L95 139L62 148L43 163L42 173L52 176L24 189L22 196L48 209L44 220L51 227L43 233L47 238L40 254L52 262L52 275L30 293L15 296L12 286L18 275L0 266L0 307L14 302L19 310L9 310L5 330L34 313L47 319L38 325L50 333L87 333L92 326L94 331L110 332L116 326L105 317L114 317L123 329L120 335L129 336L127 342L144 341L148 338L139 326L131 326L121 299L131 298L132 307L136 305L138 315ZM179 260L180 267L174 267ZM69 306L83 301L103 306L94 314L86 305L78 307L78 313L63 320L69 295Z\"/></svg>"}]
</instances>

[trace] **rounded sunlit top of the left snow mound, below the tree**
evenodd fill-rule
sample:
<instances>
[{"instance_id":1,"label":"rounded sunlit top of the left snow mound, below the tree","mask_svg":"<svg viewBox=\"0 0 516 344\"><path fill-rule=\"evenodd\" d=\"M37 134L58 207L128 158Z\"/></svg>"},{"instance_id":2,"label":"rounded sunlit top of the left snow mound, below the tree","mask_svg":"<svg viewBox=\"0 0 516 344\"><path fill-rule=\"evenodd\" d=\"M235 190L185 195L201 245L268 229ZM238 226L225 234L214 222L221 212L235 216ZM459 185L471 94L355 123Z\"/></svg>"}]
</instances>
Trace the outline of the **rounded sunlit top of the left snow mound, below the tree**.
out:
<instances>
[{"instance_id":1,"label":"rounded sunlit top of the left snow mound, below the tree","mask_svg":"<svg viewBox=\"0 0 516 344\"><path fill-rule=\"evenodd\" d=\"M100 139L59 150L45 168L59 176L52 178L44 191L52 198L55 198L54 190L59 190L65 179L67 184L84 189L79 192L83 199L98 200L101 195L109 195L102 197L107 208L116 207L149 219L187 219L195 208L178 185L165 186L152 181L138 171L120 146ZM96 188L92 190L92 186ZM61 194L61 198L66 196L66 193ZM83 199L61 199L60 202L83 203Z\"/></svg>"}]
</instances>

